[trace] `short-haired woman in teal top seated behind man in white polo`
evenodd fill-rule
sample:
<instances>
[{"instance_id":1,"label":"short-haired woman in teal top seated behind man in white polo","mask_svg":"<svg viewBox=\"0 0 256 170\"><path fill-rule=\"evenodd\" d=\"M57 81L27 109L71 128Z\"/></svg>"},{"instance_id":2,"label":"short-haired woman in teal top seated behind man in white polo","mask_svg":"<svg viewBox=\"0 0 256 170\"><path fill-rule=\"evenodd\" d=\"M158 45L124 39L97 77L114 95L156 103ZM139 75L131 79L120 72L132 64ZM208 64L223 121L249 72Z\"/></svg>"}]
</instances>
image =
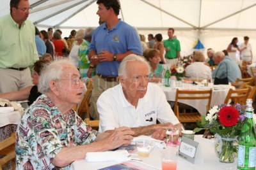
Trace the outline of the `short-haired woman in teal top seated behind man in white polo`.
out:
<instances>
[{"instance_id":1,"label":"short-haired woman in teal top seated behind man in white polo","mask_svg":"<svg viewBox=\"0 0 256 170\"><path fill-rule=\"evenodd\" d=\"M148 60L150 64L150 73L149 78L151 82L158 83L161 81L161 77L163 74L163 66L159 64L160 62L160 53L156 49L150 49L147 53L145 53L145 58Z\"/></svg>"}]
</instances>

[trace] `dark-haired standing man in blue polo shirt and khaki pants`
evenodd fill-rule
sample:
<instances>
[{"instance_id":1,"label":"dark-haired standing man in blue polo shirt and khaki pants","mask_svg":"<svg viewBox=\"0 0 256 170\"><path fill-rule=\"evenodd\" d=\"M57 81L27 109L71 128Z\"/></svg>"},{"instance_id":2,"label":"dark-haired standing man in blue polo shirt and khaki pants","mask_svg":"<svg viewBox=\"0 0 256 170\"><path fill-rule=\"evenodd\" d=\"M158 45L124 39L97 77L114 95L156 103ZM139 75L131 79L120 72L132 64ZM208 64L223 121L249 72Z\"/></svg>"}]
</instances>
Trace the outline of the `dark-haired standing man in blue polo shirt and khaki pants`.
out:
<instances>
[{"instance_id":1,"label":"dark-haired standing man in blue polo shirt and khaki pants","mask_svg":"<svg viewBox=\"0 0 256 170\"><path fill-rule=\"evenodd\" d=\"M97 99L100 94L118 84L118 67L124 57L131 53L142 55L140 38L136 30L118 20L118 0L98 0L97 15L104 24L95 29L92 36L89 58L91 67L97 64L97 76L93 77L93 92L90 115L99 120Z\"/></svg>"}]
</instances>

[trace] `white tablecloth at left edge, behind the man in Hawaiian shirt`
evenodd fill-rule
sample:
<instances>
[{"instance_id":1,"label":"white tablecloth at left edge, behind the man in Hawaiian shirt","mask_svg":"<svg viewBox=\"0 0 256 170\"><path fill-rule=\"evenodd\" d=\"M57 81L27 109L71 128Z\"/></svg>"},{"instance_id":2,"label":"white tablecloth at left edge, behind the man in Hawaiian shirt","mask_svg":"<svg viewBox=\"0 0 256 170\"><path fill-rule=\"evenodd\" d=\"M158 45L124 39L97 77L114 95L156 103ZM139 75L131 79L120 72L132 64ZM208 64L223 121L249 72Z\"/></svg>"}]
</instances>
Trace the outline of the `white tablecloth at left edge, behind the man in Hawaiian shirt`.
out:
<instances>
[{"instance_id":1,"label":"white tablecloth at left edge, behind the man in Hawaiian shirt","mask_svg":"<svg viewBox=\"0 0 256 170\"><path fill-rule=\"evenodd\" d=\"M19 124L22 113L20 111L12 111L9 113L0 113L0 127L8 124Z\"/></svg>"}]
</instances>

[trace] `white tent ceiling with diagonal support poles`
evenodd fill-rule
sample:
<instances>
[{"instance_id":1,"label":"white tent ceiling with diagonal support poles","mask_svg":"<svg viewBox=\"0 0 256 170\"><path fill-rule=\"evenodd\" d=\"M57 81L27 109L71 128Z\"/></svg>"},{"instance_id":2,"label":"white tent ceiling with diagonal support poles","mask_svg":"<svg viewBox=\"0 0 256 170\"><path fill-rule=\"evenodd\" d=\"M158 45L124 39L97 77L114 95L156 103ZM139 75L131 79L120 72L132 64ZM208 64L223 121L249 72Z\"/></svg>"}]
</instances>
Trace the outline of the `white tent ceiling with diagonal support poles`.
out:
<instances>
[{"instance_id":1,"label":"white tent ceiling with diagonal support poles","mask_svg":"<svg viewBox=\"0 0 256 170\"><path fill-rule=\"evenodd\" d=\"M255 0L119 0L119 18L138 29L235 29L256 31ZM1 1L0 16L10 12ZM40 27L97 27L96 0L30 0L29 20Z\"/></svg>"}]
</instances>

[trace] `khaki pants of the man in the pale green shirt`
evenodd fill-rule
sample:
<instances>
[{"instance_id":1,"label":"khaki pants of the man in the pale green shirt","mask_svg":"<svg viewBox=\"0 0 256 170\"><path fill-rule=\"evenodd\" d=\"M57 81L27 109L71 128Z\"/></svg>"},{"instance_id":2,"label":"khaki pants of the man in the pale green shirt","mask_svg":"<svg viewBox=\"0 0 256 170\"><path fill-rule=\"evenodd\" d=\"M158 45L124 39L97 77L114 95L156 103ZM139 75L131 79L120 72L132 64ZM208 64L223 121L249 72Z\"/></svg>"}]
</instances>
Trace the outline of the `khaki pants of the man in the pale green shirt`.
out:
<instances>
[{"instance_id":1,"label":"khaki pants of the man in the pale green shirt","mask_svg":"<svg viewBox=\"0 0 256 170\"><path fill-rule=\"evenodd\" d=\"M16 92L32 85L29 67L19 71L0 68L0 93Z\"/></svg>"}]
</instances>

